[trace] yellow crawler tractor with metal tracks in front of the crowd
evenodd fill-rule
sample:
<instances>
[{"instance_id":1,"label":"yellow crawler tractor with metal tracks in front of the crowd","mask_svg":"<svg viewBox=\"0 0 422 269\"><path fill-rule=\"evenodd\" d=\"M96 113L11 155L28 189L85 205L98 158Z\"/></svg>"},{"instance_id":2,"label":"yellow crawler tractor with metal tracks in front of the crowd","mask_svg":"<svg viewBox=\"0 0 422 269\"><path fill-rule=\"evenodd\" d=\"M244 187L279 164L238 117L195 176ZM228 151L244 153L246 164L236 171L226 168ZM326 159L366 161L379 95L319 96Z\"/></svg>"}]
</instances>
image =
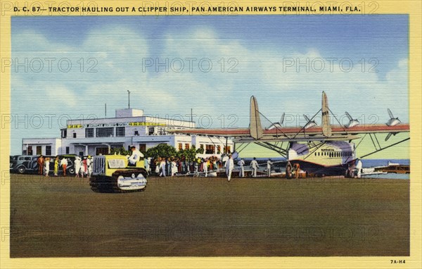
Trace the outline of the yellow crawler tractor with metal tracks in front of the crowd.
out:
<instances>
[{"instance_id":1,"label":"yellow crawler tractor with metal tracks in front of the crowd","mask_svg":"<svg viewBox=\"0 0 422 269\"><path fill-rule=\"evenodd\" d=\"M146 188L148 172L143 158L129 166L127 156L94 156L89 184L94 192L141 192Z\"/></svg>"}]
</instances>

